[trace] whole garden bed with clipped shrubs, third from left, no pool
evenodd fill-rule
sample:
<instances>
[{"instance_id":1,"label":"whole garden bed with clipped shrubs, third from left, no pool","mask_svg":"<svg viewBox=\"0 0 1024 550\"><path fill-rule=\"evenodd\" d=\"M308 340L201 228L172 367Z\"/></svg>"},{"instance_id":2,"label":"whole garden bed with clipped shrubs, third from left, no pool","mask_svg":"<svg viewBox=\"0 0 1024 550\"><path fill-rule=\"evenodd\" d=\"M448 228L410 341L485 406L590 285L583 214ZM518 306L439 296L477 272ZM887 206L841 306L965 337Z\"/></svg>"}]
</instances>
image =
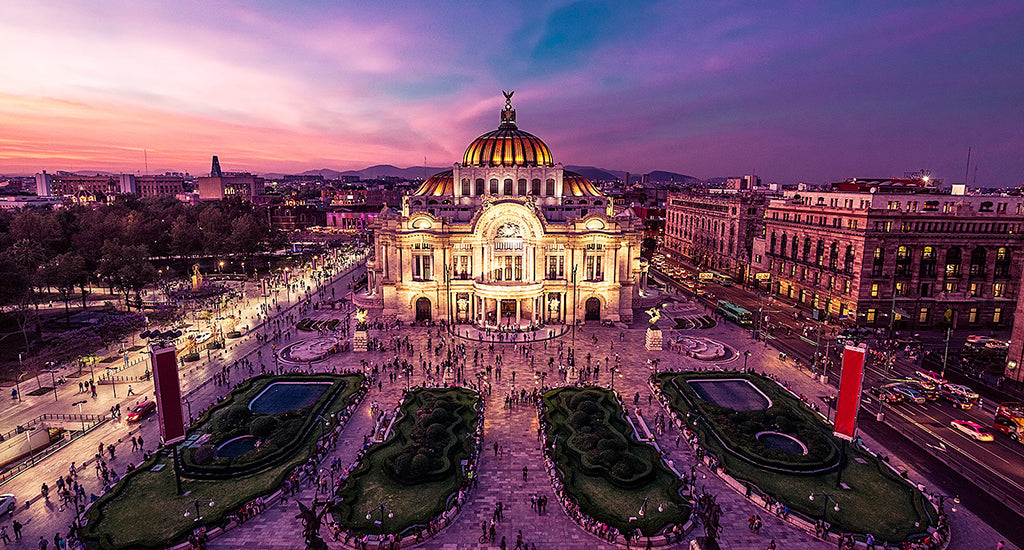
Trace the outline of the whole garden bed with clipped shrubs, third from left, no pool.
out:
<instances>
[{"instance_id":1,"label":"whole garden bed with clipped shrubs, third from left, no pool","mask_svg":"<svg viewBox=\"0 0 1024 550\"><path fill-rule=\"evenodd\" d=\"M612 392L555 389L544 395L544 413L565 491L584 513L646 536L686 522L690 507L680 494L682 481L657 450L634 438ZM648 513L638 516L645 503Z\"/></svg>"}]
</instances>

